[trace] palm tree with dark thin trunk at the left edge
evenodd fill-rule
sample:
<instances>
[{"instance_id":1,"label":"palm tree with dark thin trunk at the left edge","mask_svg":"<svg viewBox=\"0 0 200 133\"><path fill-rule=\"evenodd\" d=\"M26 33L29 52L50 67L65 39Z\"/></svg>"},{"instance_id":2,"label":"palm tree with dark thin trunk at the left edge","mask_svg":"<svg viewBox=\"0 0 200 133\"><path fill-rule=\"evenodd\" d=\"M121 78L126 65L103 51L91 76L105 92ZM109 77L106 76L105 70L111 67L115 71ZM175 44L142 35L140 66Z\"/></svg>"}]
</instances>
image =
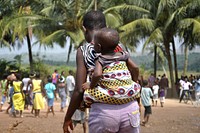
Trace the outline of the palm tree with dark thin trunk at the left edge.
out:
<instances>
[{"instance_id":1,"label":"palm tree with dark thin trunk at the left edge","mask_svg":"<svg viewBox=\"0 0 200 133\"><path fill-rule=\"evenodd\" d=\"M13 10L10 16L4 16L1 20L1 43L11 44L16 46L19 44L22 46L25 37L27 38L28 50L29 50L29 62L30 70L33 70L33 57L31 50L31 28L30 23L35 19L35 16L31 16L30 7L26 6L26 2L18 0L11 1L10 6L13 7ZM5 37L9 37L8 39Z\"/></svg>"}]
</instances>

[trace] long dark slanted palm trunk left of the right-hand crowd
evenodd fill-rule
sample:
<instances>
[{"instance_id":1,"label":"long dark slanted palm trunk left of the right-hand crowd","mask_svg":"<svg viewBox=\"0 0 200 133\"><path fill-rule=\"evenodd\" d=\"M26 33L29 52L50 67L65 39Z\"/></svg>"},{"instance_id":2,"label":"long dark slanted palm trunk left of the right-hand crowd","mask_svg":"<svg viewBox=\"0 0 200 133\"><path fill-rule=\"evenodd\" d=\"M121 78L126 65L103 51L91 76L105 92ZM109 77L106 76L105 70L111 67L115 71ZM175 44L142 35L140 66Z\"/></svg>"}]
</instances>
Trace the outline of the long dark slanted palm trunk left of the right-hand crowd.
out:
<instances>
[{"instance_id":1,"label":"long dark slanted palm trunk left of the right-hand crowd","mask_svg":"<svg viewBox=\"0 0 200 133\"><path fill-rule=\"evenodd\" d=\"M169 38L164 39L164 46L166 50L166 56L167 56L167 61L168 61L168 67L169 67L169 74L170 74L170 81L171 81L171 96L174 97L173 90L175 89L175 84L174 84L174 75L173 75L173 67L172 67L172 59L171 59L171 54L170 54L170 44L169 44Z\"/></svg>"}]
</instances>

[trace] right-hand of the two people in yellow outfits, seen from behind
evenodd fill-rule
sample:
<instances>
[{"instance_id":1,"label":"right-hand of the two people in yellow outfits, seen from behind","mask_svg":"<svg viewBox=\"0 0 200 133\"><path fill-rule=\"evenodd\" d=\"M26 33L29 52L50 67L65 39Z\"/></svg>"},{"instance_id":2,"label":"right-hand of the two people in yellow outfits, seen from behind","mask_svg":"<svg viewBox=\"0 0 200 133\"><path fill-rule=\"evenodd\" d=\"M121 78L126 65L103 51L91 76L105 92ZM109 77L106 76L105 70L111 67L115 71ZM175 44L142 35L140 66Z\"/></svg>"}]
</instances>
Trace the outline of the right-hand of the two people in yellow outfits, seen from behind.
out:
<instances>
[{"instance_id":1,"label":"right-hand of the two people in yellow outfits, seen from behind","mask_svg":"<svg viewBox=\"0 0 200 133\"><path fill-rule=\"evenodd\" d=\"M31 75L33 78L29 80L28 85L31 85L31 92L33 93L33 109L35 110L35 117L38 118L40 115L40 110L44 109L44 100L43 96L45 95L45 91L43 88L43 82L40 79L40 74L34 73Z\"/></svg>"}]
</instances>

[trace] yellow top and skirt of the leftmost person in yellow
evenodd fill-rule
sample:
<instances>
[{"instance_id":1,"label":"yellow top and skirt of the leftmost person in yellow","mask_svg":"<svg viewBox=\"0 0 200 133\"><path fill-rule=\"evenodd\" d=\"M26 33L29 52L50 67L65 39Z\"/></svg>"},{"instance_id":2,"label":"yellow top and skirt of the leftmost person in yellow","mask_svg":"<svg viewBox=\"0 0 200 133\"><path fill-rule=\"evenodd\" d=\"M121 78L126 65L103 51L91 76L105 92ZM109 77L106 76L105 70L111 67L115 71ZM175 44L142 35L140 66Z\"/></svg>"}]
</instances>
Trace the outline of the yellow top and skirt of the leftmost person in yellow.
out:
<instances>
[{"instance_id":1,"label":"yellow top and skirt of the leftmost person in yellow","mask_svg":"<svg viewBox=\"0 0 200 133\"><path fill-rule=\"evenodd\" d=\"M13 100L13 105L15 110L24 110L24 98L23 98L23 93L21 93L20 87L21 87L22 82L21 81L14 81L13 82L13 88L14 88L14 94L12 97Z\"/></svg>"}]
</instances>

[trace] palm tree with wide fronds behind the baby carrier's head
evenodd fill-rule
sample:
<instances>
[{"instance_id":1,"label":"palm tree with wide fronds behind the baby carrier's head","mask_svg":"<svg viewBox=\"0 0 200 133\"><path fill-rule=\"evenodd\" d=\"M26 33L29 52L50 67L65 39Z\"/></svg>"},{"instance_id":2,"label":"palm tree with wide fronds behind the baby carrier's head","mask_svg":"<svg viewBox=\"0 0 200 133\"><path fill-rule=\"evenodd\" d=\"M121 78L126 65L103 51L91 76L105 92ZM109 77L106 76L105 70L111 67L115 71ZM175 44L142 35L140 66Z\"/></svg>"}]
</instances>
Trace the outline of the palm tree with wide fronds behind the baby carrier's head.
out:
<instances>
[{"instance_id":1,"label":"palm tree with wide fronds behind the baby carrier's head","mask_svg":"<svg viewBox=\"0 0 200 133\"><path fill-rule=\"evenodd\" d=\"M120 3L120 4L119 4ZM121 4L121 2L111 2L106 0L57 0L53 2L46 2L39 4L39 7L32 7L34 14L37 14L38 8L41 9L39 15L44 16L44 19L38 22L38 25L34 26L37 29L35 36L37 37L40 45L53 47L54 43L60 46L65 46L66 37L70 37L71 44L68 53L72 47L77 48L84 42L84 34L82 32L82 18L83 15L94 8L103 10L107 24L109 27L117 28L122 25L122 18L119 15L121 10L140 10L145 12L145 9L133 6ZM31 2L30 5L35 5ZM115 20L115 21L113 21ZM39 30L40 29L40 30Z\"/></svg>"}]
</instances>

